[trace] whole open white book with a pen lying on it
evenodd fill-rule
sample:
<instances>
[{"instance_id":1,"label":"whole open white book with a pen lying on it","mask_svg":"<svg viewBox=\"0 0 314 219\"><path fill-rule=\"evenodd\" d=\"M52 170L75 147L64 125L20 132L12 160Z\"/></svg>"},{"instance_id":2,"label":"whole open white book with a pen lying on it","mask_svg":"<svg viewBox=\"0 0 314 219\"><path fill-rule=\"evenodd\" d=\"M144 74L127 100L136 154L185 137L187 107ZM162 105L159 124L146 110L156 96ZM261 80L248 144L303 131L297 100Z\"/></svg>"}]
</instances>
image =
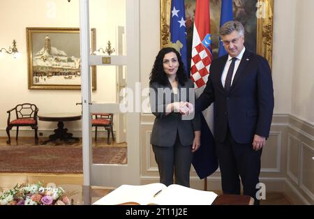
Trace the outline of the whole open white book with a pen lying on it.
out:
<instances>
[{"instance_id":1,"label":"whole open white book with a pen lying on it","mask_svg":"<svg viewBox=\"0 0 314 219\"><path fill-rule=\"evenodd\" d=\"M210 205L217 194L177 184L165 186L151 183L142 186L122 185L94 204L158 204L158 205Z\"/></svg>"}]
</instances>

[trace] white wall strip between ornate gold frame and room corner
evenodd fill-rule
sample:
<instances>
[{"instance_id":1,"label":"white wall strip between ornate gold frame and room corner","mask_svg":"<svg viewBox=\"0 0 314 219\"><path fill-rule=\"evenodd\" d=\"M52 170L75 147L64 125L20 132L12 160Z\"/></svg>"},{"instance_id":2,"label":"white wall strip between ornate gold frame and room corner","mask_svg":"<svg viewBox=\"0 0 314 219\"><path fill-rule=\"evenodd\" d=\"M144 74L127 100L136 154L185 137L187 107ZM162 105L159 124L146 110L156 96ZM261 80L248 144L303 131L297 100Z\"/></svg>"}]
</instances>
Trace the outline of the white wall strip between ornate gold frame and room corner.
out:
<instances>
[{"instance_id":1,"label":"white wall strip between ornate gold frame and room corner","mask_svg":"<svg viewBox=\"0 0 314 219\"><path fill-rule=\"evenodd\" d=\"M296 0L274 1L273 66L274 114L291 112L294 68L294 17ZM286 37L289 36L289 37Z\"/></svg>"}]
</instances>

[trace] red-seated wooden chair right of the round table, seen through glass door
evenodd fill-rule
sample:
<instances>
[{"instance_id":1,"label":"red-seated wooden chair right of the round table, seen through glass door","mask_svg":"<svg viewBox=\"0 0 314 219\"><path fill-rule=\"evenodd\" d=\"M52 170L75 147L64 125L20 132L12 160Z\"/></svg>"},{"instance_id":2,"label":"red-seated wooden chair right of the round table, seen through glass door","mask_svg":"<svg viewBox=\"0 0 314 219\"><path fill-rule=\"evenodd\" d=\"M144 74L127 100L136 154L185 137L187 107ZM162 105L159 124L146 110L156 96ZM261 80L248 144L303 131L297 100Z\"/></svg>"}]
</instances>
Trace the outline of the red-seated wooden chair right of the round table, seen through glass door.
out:
<instances>
[{"instance_id":1,"label":"red-seated wooden chair right of the round table, seen through glass door","mask_svg":"<svg viewBox=\"0 0 314 219\"><path fill-rule=\"evenodd\" d=\"M110 144L110 132L112 134L112 140L114 141L113 133L113 114L107 113L93 113L91 114L91 126L95 127L95 141L97 140L97 128L98 126L107 130L107 144Z\"/></svg>"}]
</instances>

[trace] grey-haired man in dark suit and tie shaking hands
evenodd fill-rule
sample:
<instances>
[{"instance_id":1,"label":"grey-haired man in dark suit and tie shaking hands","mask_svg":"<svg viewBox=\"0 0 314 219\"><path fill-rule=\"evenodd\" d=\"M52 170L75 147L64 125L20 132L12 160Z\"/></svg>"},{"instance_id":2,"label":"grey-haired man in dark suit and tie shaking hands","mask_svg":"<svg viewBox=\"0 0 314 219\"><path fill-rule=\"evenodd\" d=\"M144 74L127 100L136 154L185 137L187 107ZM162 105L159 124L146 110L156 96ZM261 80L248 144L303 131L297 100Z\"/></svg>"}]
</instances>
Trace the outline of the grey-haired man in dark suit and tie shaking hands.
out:
<instances>
[{"instance_id":1,"label":"grey-haired man in dark suit and tie shaking hands","mask_svg":"<svg viewBox=\"0 0 314 219\"><path fill-rule=\"evenodd\" d=\"M274 110L271 70L266 59L244 47L240 22L227 22L219 32L228 54L211 63L195 109L200 112L215 103L214 133L223 192L240 194L240 176L244 195L259 204L260 156Z\"/></svg>"}]
</instances>

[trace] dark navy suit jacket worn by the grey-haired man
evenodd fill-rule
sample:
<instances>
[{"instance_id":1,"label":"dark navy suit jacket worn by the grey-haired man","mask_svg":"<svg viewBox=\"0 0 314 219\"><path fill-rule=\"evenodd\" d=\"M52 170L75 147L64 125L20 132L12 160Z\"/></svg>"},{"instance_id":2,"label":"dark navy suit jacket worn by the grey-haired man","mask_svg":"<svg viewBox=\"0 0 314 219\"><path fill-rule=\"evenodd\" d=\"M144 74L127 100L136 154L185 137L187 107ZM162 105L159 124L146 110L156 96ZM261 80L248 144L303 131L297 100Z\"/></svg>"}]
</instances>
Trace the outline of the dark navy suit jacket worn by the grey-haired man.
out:
<instances>
[{"instance_id":1,"label":"dark navy suit jacket worn by the grey-haired man","mask_svg":"<svg viewBox=\"0 0 314 219\"><path fill-rule=\"evenodd\" d=\"M221 83L227 57L221 56L211 63L204 92L196 100L196 111L215 102L214 132L219 142L225 140L227 123L232 137L240 144L251 143L255 134L268 137L274 110L269 63L246 50L227 93Z\"/></svg>"}]
</instances>

